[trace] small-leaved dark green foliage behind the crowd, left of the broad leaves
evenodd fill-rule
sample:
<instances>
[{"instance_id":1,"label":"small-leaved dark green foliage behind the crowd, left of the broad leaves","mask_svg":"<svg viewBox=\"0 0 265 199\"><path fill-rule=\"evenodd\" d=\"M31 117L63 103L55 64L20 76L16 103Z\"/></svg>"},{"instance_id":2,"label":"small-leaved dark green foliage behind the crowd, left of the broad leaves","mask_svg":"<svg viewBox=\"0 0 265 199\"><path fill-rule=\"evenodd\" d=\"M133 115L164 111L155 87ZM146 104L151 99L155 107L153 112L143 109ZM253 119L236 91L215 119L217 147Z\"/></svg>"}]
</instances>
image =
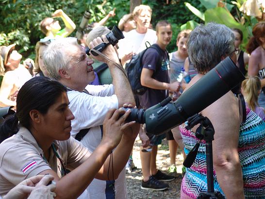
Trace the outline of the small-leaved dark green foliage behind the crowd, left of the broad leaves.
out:
<instances>
[{"instance_id":1,"label":"small-leaved dark green foliage behind the crowd, left of the broad leaves","mask_svg":"<svg viewBox=\"0 0 265 199\"><path fill-rule=\"evenodd\" d=\"M184 5L184 0L143 0L152 9L152 24L162 19L172 23L173 38L168 46L169 51L176 50L176 37L180 32L180 26L187 21L193 20L201 23L202 20L189 14ZM199 0L190 0L197 9L204 12L206 9ZM16 49L23 57L33 57L37 41L45 35L39 28L40 21L50 17L57 10L62 9L78 27L86 10L91 13L89 23L98 22L105 17L113 8L116 8L116 16L109 18L106 26L116 25L119 19L130 12L129 0L1 0L0 3L0 45L16 43ZM62 27L64 23L59 20ZM75 32L70 36L75 36Z\"/></svg>"}]
</instances>

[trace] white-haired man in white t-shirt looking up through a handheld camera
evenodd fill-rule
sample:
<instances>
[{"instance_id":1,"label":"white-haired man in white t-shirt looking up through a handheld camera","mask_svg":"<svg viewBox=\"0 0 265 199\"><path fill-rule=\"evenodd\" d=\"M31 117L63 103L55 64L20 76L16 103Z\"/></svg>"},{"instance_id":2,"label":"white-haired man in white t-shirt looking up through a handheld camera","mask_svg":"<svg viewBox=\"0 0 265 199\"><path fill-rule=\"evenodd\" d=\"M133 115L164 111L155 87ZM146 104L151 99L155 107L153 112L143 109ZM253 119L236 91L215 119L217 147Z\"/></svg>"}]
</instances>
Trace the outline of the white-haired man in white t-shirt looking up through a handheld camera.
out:
<instances>
[{"instance_id":1,"label":"white-haired man in white t-shirt looking up through a handheld camera","mask_svg":"<svg viewBox=\"0 0 265 199\"><path fill-rule=\"evenodd\" d=\"M105 35L102 35L102 39L107 42ZM94 48L94 45L99 43L102 43L100 37L90 42L90 48ZM60 51L67 51L72 56L60 56ZM92 67L94 61L86 56L83 48L77 44L76 38L53 41L44 53L44 64L50 78L63 83L68 90L69 108L75 116L75 119L72 120L71 135L76 139L79 137L83 145L91 152L101 141L102 130L100 125L103 124L107 111L111 108L120 108L125 103L133 106L135 104L131 86L123 67L119 63L115 47L109 45L102 52L113 62L107 61L101 55L93 57L108 64L113 77L113 84L111 85L88 85L95 78ZM54 56L55 53L58 56ZM135 125L134 130L139 131L137 128L139 125ZM134 130L133 132L135 132ZM128 157L133 142L134 139L130 140L130 146L124 149L128 150ZM110 170L110 172L112 171ZM116 181L112 181L112 179L110 181L93 180L87 188L89 198L127 199L125 169Z\"/></svg>"}]
</instances>

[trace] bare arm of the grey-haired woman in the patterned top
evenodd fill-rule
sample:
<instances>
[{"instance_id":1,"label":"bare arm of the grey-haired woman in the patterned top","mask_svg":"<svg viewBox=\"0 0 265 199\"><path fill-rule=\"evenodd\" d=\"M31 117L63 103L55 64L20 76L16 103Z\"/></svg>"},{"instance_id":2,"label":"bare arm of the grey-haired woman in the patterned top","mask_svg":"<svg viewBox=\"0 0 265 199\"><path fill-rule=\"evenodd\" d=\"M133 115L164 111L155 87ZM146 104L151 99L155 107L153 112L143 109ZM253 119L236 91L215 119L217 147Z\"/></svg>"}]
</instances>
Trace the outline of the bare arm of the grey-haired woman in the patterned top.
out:
<instances>
[{"instance_id":1,"label":"bare arm of the grey-haired woman in the patterned top","mask_svg":"<svg viewBox=\"0 0 265 199\"><path fill-rule=\"evenodd\" d=\"M202 111L215 128L213 160L217 181L228 199L243 199L243 177L238 156L239 108L232 92Z\"/></svg>"}]
</instances>

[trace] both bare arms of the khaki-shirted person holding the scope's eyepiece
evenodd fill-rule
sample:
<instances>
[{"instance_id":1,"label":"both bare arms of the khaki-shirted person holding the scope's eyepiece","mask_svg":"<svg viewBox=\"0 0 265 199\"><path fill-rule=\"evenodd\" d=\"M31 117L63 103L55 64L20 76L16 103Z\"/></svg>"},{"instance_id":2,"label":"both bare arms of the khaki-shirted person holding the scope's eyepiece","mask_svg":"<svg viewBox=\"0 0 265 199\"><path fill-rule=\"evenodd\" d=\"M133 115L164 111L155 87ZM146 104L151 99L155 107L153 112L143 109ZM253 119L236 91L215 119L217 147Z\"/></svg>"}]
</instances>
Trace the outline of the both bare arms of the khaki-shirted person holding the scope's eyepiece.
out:
<instances>
[{"instance_id":1,"label":"both bare arms of the khaki-shirted person holding the scope's eyepiece","mask_svg":"<svg viewBox=\"0 0 265 199\"><path fill-rule=\"evenodd\" d=\"M115 111L115 109L112 109L108 112L103 123L104 133L102 141L82 165L78 166L61 179L51 169L40 173L49 173L54 176L54 181L56 182L56 199L77 198L83 193L96 175L99 179L108 180L110 158L108 156L120 142L113 152L114 177L116 178L118 176L119 172L122 170L121 167L123 168L128 161L134 142L132 139L134 134L132 134L130 127L135 129L135 127L132 126L134 122L124 123L125 119L130 114L130 110L119 117L121 114L124 114L124 111ZM129 133L131 133L131 135L128 135ZM130 140L129 137L131 138ZM102 166L103 164L104 166ZM109 178L113 180L112 166L110 167Z\"/></svg>"}]
</instances>

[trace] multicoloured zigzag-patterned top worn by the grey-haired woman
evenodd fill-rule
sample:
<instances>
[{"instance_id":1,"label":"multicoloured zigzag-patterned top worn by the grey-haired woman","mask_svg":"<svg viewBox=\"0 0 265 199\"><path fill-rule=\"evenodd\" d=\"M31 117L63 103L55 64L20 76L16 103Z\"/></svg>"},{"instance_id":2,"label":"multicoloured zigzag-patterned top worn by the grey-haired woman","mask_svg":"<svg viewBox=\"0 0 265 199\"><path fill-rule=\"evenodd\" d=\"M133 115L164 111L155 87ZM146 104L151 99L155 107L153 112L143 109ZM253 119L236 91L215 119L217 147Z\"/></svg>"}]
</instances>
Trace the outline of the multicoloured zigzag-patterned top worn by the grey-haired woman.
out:
<instances>
[{"instance_id":1,"label":"multicoloured zigzag-patterned top worn by the grey-haired woman","mask_svg":"<svg viewBox=\"0 0 265 199\"><path fill-rule=\"evenodd\" d=\"M199 141L195 134L180 126L186 154ZM265 122L247 107L247 120L241 123L238 154L242 166L244 194L246 199L265 199ZM196 199L200 192L207 191L207 166L205 141L200 143L197 157L182 179L182 199ZM215 191L220 188L214 169Z\"/></svg>"}]
</instances>

